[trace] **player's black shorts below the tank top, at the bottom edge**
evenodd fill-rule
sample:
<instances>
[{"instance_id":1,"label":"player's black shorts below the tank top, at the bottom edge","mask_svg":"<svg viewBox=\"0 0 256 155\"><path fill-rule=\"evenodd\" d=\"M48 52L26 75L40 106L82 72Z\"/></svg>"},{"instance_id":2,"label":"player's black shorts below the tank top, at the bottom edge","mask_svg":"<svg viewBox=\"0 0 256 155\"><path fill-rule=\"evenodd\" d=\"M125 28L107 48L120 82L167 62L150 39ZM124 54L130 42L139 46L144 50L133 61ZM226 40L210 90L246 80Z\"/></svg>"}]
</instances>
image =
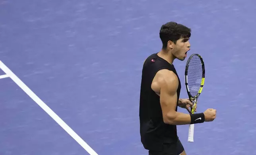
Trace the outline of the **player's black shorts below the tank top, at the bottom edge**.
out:
<instances>
[{"instance_id":1,"label":"player's black shorts below the tank top, at the bottom edge","mask_svg":"<svg viewBox=\"0 0 256 155\"><path fill-rule=\"evenodd\" d=\"M165 143L163 144L162 151L153 151L149 150L149 155L179 155L184 151L180 140L174 143Z\"/></svg>"}]
</instances>

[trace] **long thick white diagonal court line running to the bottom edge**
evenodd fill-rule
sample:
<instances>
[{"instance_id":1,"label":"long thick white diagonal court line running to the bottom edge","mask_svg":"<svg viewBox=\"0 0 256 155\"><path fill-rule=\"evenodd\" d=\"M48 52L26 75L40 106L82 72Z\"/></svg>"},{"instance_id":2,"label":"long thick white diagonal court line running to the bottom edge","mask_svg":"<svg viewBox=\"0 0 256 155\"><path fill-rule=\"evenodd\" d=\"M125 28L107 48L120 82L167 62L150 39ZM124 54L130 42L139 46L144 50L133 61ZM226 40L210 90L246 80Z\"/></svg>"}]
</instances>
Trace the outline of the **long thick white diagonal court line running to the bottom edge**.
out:
<instances>
[{"instance_id":1,"label":"long thick white diagonal court line running to the bottom edge","mask_svg":"<svg viewBox=\"0 0 256 155\"><path fill-rule=\"evenodd\" d=\"M45 112L54 119L70 136L78 142L90 155L98 155L85 141L74 132L62 119L54 113L33 91L27 87L2 61L0 61L0 68L8 75L27 95L29 95Z\"/></svg>"}]
</instances>

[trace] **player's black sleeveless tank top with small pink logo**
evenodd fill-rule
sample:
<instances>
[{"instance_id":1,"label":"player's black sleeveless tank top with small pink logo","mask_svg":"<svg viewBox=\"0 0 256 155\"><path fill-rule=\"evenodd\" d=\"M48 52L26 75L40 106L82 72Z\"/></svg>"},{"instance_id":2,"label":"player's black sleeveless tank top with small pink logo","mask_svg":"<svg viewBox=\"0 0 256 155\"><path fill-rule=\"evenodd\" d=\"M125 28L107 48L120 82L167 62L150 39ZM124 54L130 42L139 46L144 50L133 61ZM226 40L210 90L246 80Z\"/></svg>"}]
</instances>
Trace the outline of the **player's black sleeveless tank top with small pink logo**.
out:
<instances>
[{"instance_id":1,"label":"player's black sleeveless tank top with small pink logo","mask_svg":"<svg viewBox=\"0 0 256 155\"><path fill-rule=\"evenodd\" d=\"M140 135L144 148L150 150L161 150L163 143L171 143L178 140L176 125L168 125L163 122L160 96L151 89L151 83L155 74L162 69L171 70L178 77L173 64L170 64L165 59L159 57L157 53L150 55L145 60L142 69L140 90ZM181 89L179 77L178 82L177 104Z\"/></svg>"}]
</instances>

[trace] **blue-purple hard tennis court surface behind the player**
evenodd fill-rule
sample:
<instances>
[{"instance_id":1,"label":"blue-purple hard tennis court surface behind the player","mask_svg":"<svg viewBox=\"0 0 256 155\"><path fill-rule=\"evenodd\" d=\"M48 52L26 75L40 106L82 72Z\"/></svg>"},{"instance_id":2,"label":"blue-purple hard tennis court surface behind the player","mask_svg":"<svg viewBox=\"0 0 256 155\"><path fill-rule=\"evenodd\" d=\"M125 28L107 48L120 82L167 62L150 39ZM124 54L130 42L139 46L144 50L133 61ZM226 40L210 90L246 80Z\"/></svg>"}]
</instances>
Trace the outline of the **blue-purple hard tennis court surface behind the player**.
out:
<instances>
[{"instance_id":1,"label":"blue-purple hard tennis court surface behind the player","mask_svg":"<svg viewBox=\"0 0 256 155\"><path fill-rule=\"evenodd\" d=\"M161 50L161 25L181 23L192 29L188 55L199 53L206 65L198 112L217 110L215 121L195 125L194 143L188 125L178 126L186 153L256 154L255 14L252 0L0 0L0 61L98 155L147 155L139 129L142 65ZM188 96L185 64L174 62L181 98ZM89 153L5 77L0 155Z\"/></svg>"}]
</instances>

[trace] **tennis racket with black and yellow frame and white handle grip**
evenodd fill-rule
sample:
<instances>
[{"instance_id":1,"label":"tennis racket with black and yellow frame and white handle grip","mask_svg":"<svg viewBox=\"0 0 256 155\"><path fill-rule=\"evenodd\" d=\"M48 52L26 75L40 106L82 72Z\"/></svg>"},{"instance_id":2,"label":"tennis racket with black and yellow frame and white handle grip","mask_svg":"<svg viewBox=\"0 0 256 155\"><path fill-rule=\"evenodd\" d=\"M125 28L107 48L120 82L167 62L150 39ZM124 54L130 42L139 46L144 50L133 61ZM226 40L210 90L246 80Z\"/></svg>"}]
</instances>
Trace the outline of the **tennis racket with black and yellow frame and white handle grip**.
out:
<instances>
[{"instance_id":1,"label":"tennis racket with black and yellow frame and white handle grip","mask_svg":"<svg viewBox=\"0 0 256 155\"><path fill-rule=\"evenodd\" d=\"M202 93L205 78L204 60L199 54L192 54L186 63L185 85L190 101L194 104L191 113L195 112L198 97ZM188 142L194 142L194 124L189 125Z\"/></svg>"}]
</instances>

